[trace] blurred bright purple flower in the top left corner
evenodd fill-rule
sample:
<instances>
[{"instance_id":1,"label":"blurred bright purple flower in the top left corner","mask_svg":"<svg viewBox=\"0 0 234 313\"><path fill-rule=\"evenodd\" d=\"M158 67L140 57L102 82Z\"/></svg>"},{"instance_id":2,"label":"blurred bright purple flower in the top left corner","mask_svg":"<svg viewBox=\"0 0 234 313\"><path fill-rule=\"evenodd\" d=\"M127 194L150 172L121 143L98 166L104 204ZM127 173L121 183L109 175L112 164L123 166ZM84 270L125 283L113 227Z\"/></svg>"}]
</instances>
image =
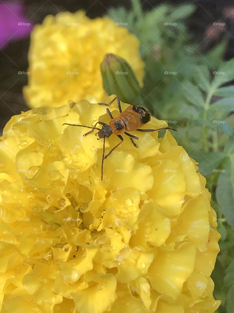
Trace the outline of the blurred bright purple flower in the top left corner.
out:
<instances>
[{"instance_id":1,"label":"blurred bright purple flower in the top left corner","mask_svg":"<svg viewBox=\"0 0 234 313\"><path fill-rule=\"evenodd\" d=\"M0 49L14 39L27 36L32 27L31 21L23 15L22 4L0 3Z\"/></svg>"}]
</instances>

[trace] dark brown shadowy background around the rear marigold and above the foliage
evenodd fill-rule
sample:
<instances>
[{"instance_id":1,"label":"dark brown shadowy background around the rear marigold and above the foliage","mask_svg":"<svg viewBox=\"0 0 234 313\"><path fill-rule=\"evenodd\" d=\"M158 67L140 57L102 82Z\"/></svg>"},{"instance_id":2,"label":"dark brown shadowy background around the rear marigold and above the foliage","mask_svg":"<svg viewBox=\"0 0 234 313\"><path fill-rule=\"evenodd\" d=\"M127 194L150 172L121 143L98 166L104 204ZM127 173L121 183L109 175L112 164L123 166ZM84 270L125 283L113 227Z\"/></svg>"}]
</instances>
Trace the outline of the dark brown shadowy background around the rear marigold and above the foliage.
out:
<instances>
[{"instance_id":1,"label":"dark brown shadowy background around the rear marigold and above the foliage","mask_svg":"<svg viewBox=\"0 0 234 313\"><path fill-rule=\"evenodd\" d=\"M86 11L86 15L95 18L108 13L110 8L131 8L129 0L37 0L21 1L24 4L25 15L34 23L41 23L47 14L57 14L59 11L75 12L79 9ZM207 27L214 21L223 19L224 8L234 9L233 0L204 0L204 1L155 1L141 0L144 10L150 10L160 3L170 3L176 7L178 4L193 3L196 6L195 13L186 20L186 24L192 33L193 42L201 42L206 37ZM227 21L225 21L227 23ZM227 32L220 34L216 39L204 40L201 52L209 50L222 36L228 36L229 46L225 59L234 56L234 19L227 23ZM27 71L27 52L29 48L29 37L10 42L0 51L0 131L12 115L19 114L22 110L28 110L22 97L22 87L27 85L27 75L20 75L16 81L16 73ZM12 62L16 63L19 68ZM14 83L15 82L15 83ZM13 85L12 85L13 84Z\"/></svg>"}]
</instances>

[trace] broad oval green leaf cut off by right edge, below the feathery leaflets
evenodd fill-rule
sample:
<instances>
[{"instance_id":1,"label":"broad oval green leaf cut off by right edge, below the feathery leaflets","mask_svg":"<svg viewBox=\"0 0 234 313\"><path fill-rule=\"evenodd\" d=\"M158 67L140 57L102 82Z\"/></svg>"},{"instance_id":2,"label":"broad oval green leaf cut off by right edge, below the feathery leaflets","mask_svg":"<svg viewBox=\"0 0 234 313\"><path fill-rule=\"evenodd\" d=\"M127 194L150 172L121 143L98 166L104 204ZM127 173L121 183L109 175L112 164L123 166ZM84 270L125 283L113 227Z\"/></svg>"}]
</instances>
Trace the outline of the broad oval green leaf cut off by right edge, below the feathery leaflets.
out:
<instances>
[{"instance_id":1,"label":"broad oval green leaf cut off by right edge, below the feathery leaflets","mask_svg":"<svg viewBox=\"0 0 234 313\"><path fill-rule=\"evenodd\" d=\"M225 160L226 161L226 160ZM234 226L234 161L230 157L217 182L216 198L227 222ZM224 172L225 171L225 172Z\"/></svg>"}]
</instances>

